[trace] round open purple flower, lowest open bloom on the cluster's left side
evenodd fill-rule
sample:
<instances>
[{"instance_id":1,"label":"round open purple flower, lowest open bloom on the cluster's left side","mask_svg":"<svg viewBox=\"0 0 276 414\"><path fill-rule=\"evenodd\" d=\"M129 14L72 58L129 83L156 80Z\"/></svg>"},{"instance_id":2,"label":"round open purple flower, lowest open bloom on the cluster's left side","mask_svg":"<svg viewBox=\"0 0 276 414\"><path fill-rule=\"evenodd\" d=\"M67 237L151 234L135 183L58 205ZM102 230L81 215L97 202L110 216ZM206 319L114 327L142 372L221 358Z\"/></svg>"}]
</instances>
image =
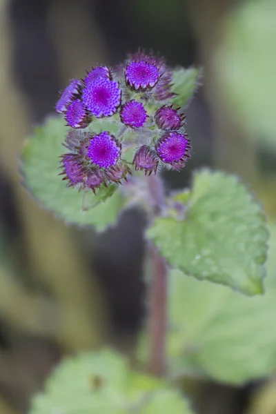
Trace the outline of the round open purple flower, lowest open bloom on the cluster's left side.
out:
<instances>
[{"instance_id":1,"label":"round open purple flower, lowest open bloom on the cluster's left side","mask_svg":"<svg viewBox=\"0 0 276 414\"><path fill-rule=\"evenodd\" d=\"M100 168L115 166L121 155L121 144L109 132L101 132L91 139L87 157Z\"/></svg>"}]
</instances>

